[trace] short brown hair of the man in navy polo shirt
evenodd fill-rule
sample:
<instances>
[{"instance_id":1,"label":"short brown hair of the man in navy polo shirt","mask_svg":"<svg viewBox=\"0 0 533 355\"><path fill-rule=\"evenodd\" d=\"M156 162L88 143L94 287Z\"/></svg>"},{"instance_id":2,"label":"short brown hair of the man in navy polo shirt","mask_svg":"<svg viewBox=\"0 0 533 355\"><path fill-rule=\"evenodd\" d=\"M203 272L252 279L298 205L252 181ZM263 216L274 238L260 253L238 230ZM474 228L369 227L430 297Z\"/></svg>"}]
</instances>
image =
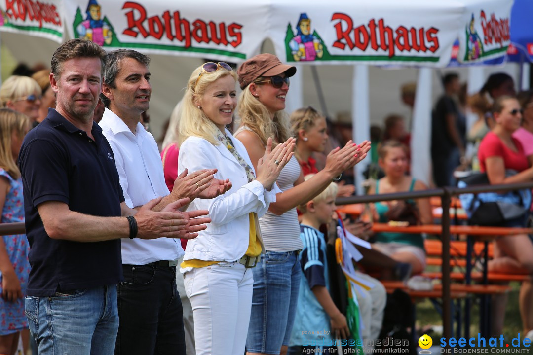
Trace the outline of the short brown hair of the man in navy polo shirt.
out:
<instances>
[{"instance_id":1,"label":"short brown hair of the man in navy polo shirt","mask_svg":"<svg viewBox=\"0 0 533 355\"><path fill-rule=\"evenodd\" d=\"M55 50L52 55L52 74L55 80L59 80L63 72L63 63L72 58L96 57L100 59L100 75L103 76L106 68L106 51L98 44L84 39L71 39Z\"/></svg>"}]
</instances>

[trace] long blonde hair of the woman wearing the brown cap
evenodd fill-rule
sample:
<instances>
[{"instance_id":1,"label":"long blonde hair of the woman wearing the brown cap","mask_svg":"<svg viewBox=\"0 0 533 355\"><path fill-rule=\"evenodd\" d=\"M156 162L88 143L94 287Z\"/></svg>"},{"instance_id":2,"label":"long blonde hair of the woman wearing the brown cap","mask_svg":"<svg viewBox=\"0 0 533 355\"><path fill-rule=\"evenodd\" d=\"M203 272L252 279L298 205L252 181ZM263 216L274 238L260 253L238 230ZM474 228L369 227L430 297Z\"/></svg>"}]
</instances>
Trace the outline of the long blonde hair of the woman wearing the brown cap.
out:
<instances>
[{"instance_id":1,"label":"long blonde hair of the woman wearing the brown cap","mask_svg":"<svg viewBox=\"0 0 533 355\"><path fill-rule=\"evenodd\" d=\"M260 77L255 81L262 80L266 79ZM287 141L292 134L285 111L274 113L274 118L270 119L271 112L252 95L249 86L245 87L240 94L238 113L239 126L251 129L259 136L263 146L266 146L269 137L272 137L274 144L278 144Z\"/></svg>"}]
</instances>

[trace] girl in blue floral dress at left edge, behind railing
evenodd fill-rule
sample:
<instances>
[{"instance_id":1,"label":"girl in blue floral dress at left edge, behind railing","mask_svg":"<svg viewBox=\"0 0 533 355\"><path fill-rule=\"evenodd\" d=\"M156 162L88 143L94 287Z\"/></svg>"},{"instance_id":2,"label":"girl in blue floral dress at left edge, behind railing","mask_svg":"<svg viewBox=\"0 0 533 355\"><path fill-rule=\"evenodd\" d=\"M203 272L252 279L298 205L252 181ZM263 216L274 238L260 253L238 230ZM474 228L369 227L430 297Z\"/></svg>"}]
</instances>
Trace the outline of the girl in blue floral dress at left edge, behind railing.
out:
<instances>
[{"instance_id":1,"label":"girl in blue floral dress at left edge, behind railing","mask_svg":"<svg viewBox=\"0 0 533 355\"><path fill-rule=\"evenodd\" d=\"M22 139L30 129L29 118L10 109L0 109L0 209L2 223L24 221L22 179L17 166ZM0 353L14 354L23 334L28 345L24 311L26 283L30 272L29 244L24 234L0 238ZM25 339L26 338L26 339Z\"/></svg>"}]
</instances>

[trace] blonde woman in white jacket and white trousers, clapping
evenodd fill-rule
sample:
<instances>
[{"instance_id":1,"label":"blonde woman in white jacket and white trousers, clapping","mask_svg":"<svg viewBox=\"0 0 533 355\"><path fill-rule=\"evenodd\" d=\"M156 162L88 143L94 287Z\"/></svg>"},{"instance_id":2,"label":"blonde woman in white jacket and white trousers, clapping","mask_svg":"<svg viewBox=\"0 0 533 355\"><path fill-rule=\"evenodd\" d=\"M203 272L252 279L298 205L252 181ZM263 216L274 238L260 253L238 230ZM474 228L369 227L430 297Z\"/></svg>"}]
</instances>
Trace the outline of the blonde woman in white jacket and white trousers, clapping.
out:
<instances>
[{"instance_id":1,"label":"blonde woman in white jacket and white trousers, clapping","mask_svg":"<svg viewBox=\"0 0 533 355\"><path fill-rule=\"evenodd\" d=\"M189 240L180 271L191 302L196 355L244 353L252 307L252 268L264 250L258 216L276 201L276 178L293 156L294 139L272 148L256 168L229 130L237 105L236 73L227 63L192 72L181 104L178 173L217 168L232 188L214 199L193 200L212 222ZM191 170L192 169L192 170Z\"/></svg>"}]
</instances>

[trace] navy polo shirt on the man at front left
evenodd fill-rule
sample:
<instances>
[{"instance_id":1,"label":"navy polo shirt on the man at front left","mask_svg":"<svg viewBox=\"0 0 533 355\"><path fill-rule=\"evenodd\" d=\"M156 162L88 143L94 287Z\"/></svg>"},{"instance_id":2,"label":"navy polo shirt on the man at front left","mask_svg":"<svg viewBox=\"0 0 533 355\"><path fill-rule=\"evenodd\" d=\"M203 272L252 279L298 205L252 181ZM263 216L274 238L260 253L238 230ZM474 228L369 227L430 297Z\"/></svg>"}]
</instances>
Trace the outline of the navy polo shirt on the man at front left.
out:
<instances>
[{"instance_id":1,"label":"navy polo shirt on the man at front left","mask_svg":"<svg viewBox=\"0 0 533 355\"><path fill-rule=\"evenodd\" d=\"M82 243L54 240L44 229L37 205L68 204L71 211L119 217L124 201L114 155L93 124L89 138L53 109L25 137L19 154L26 232L30 243L28 295L117 284L123 279L120 240Z\"/></svg>"}]
</instances>

